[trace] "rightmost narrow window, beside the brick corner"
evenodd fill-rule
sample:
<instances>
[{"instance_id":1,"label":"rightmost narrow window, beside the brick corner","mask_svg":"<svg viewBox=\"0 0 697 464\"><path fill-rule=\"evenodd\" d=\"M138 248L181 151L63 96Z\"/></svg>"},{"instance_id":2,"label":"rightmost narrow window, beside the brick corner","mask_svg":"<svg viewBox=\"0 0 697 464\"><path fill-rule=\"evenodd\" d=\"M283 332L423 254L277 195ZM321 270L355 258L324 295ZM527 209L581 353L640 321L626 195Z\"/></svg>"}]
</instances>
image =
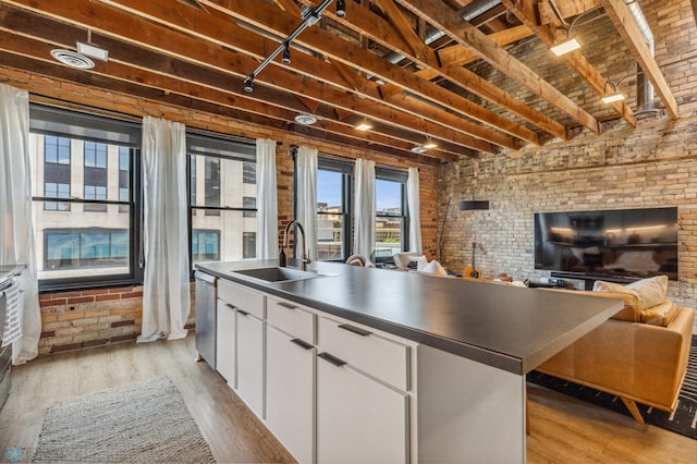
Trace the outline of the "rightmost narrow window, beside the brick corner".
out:
<instances>
[{"instance_id":1,"label":"rightmost narrow window, beside the brick corner","mask_svg":"<svg viewBox=\"0 0 697 464\"><path fill-rule=\"evenodd\" d=\"M376 168L375 256L376 262L408 249L405 172Z\"/></svg>"}]
</instances>

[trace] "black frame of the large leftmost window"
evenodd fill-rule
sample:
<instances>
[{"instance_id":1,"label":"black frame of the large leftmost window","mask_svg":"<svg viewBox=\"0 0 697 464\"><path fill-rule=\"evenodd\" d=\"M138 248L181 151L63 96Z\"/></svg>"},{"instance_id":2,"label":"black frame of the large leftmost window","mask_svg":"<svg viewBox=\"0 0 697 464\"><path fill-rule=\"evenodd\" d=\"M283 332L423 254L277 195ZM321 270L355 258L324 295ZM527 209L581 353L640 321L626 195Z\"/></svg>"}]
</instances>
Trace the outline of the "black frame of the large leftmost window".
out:
<instances>
[{"instance_id":1,"label":"black frame of the large leftmost window","mask_svg":"<svg viewBox=\"0 0 697 464\"><path fill-rule=\"evenodd\" d=\"M53 292L65 290L83 290L83 289L99 289L99 288L113 288L142 284L144 277L143 267L143 240L142 240L142 170L140 170L140 133L142 127L139 123L127 121L125 119L106 118L102 115L96 115L90 112L81 112L77 110L66 110L61 108L45 107L37 103L29 105L29 132L44 136L57 136L71 139L71 146L73 139L80 139L83 142L103 143L108 145L114 145L119 147L126 147L130 150L130 175L129 175L129 190L131 192L129 200L96 200L86 198L61 198L60 203L65 203L69 206L72 204L83 205L119 205L129 208L129 271L125 273L111 273L111 274L89 274L85 273L78 277L63 277L54 279L39 279L38 288L39 292ZM72 151L72 149L71 149ZM83 148L84 157L84 148ZM46 158L46 154L44 154ZM72 169L72 154L71 166ZM46 162L46 159L44 160ZM119 163L120 164L120 163ZM99 168L101 169L101 168ZM108 169L108 167L107 167ZM73 185L71 185L71 192ZM84 187L83 192L84 194ZM56 202L53 197L32 196L33 208L41 202ZM72 209L72 208L70 208ZM70 213L69 211L51 211L52 213ZM64 228L64 230L75 230L76 228ZM91 229L91 228L83 228ZM109 228L106 230L112 230ZM47 228L46 231L56 231L56 228ZM45 237L46 240L47 237ZM48 249L45 247L45 256L37 256L37 260L40 258L46 261L48 256ZM85 269L90 269L86 267Z\"/></svg>"}]
</instances>

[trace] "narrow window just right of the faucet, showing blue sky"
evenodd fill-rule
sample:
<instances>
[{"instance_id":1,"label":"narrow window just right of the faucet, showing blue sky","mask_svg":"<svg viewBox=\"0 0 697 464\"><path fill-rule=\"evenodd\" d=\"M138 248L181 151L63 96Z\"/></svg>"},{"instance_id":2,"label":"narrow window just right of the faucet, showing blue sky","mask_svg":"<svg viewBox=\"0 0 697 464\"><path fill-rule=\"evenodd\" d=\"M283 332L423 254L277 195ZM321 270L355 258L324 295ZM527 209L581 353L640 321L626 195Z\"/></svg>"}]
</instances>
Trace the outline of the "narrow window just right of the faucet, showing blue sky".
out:
<instances>
[{"instance_id":1,"label":"narrow window just right of the faucet, showing blue sky","mask_svg":"<svg viewBox=\"0 0 697 464\"><path fill-rule=\"evenodd\" d=\"M317 253L320 260L345 260L351 247L348 188L352 166L319 158L317 169Z\"/></svg>"}]
</instances>

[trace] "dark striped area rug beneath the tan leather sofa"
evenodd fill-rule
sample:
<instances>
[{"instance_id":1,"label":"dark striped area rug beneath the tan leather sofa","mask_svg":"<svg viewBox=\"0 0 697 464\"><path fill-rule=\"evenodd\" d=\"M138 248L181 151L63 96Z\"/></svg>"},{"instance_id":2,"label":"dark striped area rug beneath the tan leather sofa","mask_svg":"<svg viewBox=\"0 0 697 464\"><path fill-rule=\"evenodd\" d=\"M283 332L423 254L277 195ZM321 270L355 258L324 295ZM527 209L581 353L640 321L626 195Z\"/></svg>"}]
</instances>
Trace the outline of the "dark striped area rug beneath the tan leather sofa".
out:
<instances>
[{"instance_id":1,"label":"dark striped area rug beneath the tan leather sofa","mask_svg":"<svg viewBox=\"0 0 697 464\"><path fill-rule=\"evenodd\" d=\"M527 375L527 381L577 398L598 406L629 416L629 412L620 398L578 383L558 379L538 371ZM680 391L677 406L672 413L637 403L647 424L655 425L685 437L697 440L697 335L693 335L687 362L687 374Z\"/></svg>"}]
</instances>

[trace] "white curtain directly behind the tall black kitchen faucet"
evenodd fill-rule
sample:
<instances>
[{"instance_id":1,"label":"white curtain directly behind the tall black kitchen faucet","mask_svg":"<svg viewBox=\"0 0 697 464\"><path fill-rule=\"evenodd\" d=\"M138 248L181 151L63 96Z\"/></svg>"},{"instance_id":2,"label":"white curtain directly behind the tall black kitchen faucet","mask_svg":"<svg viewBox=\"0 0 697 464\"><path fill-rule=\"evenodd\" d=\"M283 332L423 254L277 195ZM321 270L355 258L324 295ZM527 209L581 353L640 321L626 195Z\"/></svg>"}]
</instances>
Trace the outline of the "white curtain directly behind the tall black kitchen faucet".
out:
<instances>
[{"instance_id":1,"label":"white curtain directly behind the tall black kitchen faucet","mask_svg":"<svg viewBox=\"0 0 697 464\"><path fill-rule=\"evenodd\" d=\"M296 216L305 229L305 242L310 259L317 259L317 148L298 147Z\"/></svg>"}]
</instances>

